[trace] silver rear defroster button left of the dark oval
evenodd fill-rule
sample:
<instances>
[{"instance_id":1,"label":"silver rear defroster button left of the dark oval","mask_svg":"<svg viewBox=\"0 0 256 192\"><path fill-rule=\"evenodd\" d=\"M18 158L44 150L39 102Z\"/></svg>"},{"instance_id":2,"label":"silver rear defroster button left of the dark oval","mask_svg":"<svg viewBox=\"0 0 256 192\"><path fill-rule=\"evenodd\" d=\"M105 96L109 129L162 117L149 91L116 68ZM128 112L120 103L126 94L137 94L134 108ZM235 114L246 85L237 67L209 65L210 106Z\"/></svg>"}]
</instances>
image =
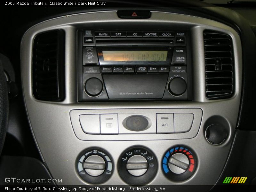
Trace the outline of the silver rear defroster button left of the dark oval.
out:
<instances>
[{"instance_id":1,"label":"silver rear defroster button left of the dark oval","mask_svg":"<svg viewBox=\"0 0 256 192\"><path fill-rule=\"evenodd\" d=\"M100 134L118 134L118 115L100 115Z\"/></svg>"}]
</instances>

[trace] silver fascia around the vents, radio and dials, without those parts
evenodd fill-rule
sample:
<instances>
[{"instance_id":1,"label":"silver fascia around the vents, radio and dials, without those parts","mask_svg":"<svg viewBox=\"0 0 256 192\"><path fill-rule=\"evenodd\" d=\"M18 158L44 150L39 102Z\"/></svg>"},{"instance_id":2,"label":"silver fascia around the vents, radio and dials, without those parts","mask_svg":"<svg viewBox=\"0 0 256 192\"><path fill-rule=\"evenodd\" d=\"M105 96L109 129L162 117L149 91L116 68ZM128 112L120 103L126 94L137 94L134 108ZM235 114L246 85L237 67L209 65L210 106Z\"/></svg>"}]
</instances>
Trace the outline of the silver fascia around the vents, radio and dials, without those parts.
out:
<instances>
[{"instance_id":1,"label":"silver fascia around the vents, radio and dials, without those parts","mask_svg":"<svg viewBox=\"0 0 256 192\"><path fill-rule=\"evenodd\" d=\"M170 28L190 30L192 36L194 100L184 102L101 102L78 103L76 95L76 32L80 28ZM66 98L62 102L39 101L32 93L32 49L36 34L61 28L66 33L65 82ZM227 33L233 40L235 63L235 94L230 99L207 100L205 98L204 40L203 30L211 29ZM157 156L158 171L151 185L214 185L225 164L230 149L239 111L242 83L241 42L237 32L225 24L204 18L167 12L152 12L149 19L120 19L116 11L89 12L67 15L41 22L24 34L21 42L21 78L28 120L43 161L53 178L62 179L58 185L86 185L76 172L77 155L89 147L103 148L110 153L114 163L112 177L104 185L125 185L116 169L120 154L131 146L150 148ZM70 121L72 110L136 110L199 108L202 120L199 131L190 139L86 141L76 137ZM211 116L222 116L229 125L228 139L221 145L210 144L204 136L204 124ZM188 180L167 180L159 167L164 152L174 145L192 148L198 158L196 172ZM209 163L211 162L211 164ZM67 174L68 173L68 174ZM209 174L211 173L211 174Z\"/></svg>"}]
</instances>

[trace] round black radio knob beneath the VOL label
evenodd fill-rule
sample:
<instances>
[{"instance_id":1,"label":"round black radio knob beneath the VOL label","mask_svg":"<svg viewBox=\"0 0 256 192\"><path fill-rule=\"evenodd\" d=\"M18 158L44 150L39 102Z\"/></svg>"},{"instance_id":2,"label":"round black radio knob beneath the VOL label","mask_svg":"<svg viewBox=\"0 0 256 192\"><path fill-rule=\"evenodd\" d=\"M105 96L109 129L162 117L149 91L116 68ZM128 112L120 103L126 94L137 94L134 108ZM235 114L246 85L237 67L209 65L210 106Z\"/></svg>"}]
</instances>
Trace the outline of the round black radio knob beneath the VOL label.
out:
<instances>
[{"instance_id":1,"label":"round black radio knob beneath the VOL label","mask_svg":"<svg viewBox=\"0 0 256 192\"><path fill-rule=\"evenodd\" d=\"M103 91L103 84L98 78L90 78L84 84L84 91L90 97L97 97Z\"/></svg>"}]
</instances>

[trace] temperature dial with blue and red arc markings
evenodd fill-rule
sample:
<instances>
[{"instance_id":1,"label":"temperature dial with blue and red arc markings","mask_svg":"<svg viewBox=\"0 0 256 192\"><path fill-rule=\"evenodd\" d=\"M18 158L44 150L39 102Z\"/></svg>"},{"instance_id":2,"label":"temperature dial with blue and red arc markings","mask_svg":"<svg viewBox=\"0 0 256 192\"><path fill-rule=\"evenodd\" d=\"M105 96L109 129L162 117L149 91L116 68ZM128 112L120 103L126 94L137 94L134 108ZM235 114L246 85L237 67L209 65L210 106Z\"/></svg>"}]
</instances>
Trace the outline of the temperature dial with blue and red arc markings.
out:
<instances>
[{"instance_id":1,"label":"temperature dial with blue and red arc markings","mask_svg":"<svg viewBox=\"0 0 256 192\"><path fill-rule=\"evenodd\" d=\"M192 149L176 146L165 152L162 160L164 175L169 180L183 181L195 172L197 159Z\"/></svg>"}]
</instances>

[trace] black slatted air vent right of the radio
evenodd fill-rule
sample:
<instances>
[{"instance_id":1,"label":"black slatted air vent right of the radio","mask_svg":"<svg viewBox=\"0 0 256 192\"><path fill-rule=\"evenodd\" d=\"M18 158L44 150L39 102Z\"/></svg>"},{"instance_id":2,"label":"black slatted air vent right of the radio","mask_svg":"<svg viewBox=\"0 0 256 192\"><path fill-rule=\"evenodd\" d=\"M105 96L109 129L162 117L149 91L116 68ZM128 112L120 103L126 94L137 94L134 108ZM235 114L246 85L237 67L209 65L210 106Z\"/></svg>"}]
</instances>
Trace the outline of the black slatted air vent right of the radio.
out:
<instances>
[{"instance_id":1,"label":"black slatted air vent right of the radio","mask_svg":"<svg viewBox=\"0 0 256 192\"><path fill-rule=\"evenodd\" d=\"M204 57L206 98L231 97L234 93L231 37L215 31L204 31Z\"/></svg>"}]
</instances>

